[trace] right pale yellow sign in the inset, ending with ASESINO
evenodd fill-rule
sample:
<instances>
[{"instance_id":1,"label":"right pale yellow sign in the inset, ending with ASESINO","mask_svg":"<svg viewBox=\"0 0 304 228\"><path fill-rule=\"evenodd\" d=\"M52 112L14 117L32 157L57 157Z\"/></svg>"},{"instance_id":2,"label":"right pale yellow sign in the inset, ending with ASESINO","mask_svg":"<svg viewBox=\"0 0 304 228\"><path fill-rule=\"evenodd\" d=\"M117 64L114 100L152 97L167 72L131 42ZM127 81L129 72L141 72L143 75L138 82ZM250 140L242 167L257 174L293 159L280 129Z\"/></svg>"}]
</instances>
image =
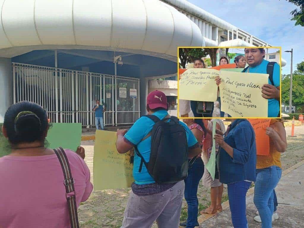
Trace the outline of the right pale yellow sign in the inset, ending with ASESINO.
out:
<instances>
[{"instance_id":1,"label":"right pale yellow sign in the inset, ending with ASESINO","mask_svg":"<svg viewBox=\"0 0 304 228\"><path fill-rule=\"evenodd\" d=\"M221 71L220 78L221 111L232 117L268 117L268 100L261 95L268 74Z\"/></svg>"}]
</instances>

